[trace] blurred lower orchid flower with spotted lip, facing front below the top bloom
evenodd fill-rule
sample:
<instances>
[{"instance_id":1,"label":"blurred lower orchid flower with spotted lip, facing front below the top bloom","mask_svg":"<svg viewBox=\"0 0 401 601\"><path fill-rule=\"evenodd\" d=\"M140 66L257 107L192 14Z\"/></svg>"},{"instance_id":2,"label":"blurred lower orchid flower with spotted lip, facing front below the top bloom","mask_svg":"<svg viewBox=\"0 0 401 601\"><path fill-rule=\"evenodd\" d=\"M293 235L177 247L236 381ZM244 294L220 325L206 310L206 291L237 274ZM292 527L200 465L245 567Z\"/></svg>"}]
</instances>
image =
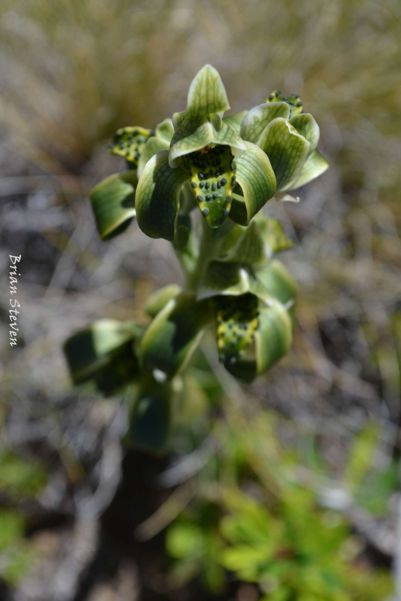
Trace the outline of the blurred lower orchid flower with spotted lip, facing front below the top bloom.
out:
<instances>
[{"instance_id":1,"label":"blurred lower orchid flower with spotted lip, facing front below the top bloom","mask_svg":"<svg viewBox=\"0 0 401 601\"><path fill-rule=\"evenodd\" d=\"M142 368L176 376L214 324L219 359L231 373L252 380L268 369L289 350L296 285L280 261L266 258L290 246L274 219L235 226L197 292L168 287L152 300L159 307L159 298L169 299L142 337Z\"/></svg>"}]
</instances>

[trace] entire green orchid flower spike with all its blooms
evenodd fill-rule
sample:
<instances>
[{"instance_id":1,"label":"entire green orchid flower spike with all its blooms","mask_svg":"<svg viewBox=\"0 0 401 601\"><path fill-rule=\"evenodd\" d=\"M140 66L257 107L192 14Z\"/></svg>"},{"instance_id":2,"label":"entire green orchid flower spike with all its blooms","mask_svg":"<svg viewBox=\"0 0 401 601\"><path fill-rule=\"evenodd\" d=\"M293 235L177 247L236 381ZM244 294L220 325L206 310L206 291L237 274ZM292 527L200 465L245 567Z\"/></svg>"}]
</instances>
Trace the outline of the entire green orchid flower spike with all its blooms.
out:
<instances>
[{"instance_id":1,"label":"entire green orchid flower spike with all its blooms","mask_svg":"<svg viewBox=\"0 0 401 601\"><path fill-rule=\"evenodd\" d=\"M173 243L185 272L185 287L171 284L150 296L144 326L100 320L65 346L73 382L124 391L126 441L156 453L167 444L185 368L206 331L225 368L248 381L292 341L296 285L274 258L292 240L262 209L326 170L319 127L298 95L279 90L249 111L224 116L228 109L219 73L204 66L185 111L155 130L117 131L111 152L126 159L127 170L90 194L103 240L136 216L144 234Z\"/></svg>"}]
</instances>

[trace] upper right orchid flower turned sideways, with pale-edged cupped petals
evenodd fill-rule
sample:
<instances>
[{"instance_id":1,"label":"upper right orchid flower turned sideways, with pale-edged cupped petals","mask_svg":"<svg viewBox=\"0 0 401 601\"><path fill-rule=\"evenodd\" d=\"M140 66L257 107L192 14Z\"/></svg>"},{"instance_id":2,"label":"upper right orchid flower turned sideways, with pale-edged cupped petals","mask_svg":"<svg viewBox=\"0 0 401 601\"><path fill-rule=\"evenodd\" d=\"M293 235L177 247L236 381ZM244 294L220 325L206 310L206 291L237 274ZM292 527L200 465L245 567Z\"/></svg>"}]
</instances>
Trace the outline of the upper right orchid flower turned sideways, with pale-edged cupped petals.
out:
<instances>
[{"instance_id":1,"label":"upper right orchid flower turned sideways, with pale-edged cupped petals","mask_svg":"<svg viewBox=\"0 0 401 601\"><path fill-rule=\"evenodd\" d=\"M300 188L321 175L328 162L317 150L319 126L305 113L298 94L269 94L266 102L248 111L240 136L267 154L277 180L277 192Z\"/></svg>"}]
</instances>

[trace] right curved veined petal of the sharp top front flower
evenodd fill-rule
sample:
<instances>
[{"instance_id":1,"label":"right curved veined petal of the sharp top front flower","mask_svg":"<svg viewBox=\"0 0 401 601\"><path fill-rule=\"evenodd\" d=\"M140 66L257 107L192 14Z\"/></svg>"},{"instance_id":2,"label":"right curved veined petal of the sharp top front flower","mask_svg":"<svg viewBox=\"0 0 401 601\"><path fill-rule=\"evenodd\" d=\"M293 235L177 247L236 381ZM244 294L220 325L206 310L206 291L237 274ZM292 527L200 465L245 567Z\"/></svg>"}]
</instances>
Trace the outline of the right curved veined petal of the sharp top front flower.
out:
<instances>
[{"instance_id":1,"label":"right curved veined petal of the sharp top front flower","mask_svg":"<svg viewBox=\"0 0 401 601\"><path fill-rule=\"evenodd\" d=\"M230 211L230 218L240 225L249 224L276 188L275 174L266 154L256 144L244 143L246 153L235 162L236 180L243 196L233 195Z\"/></svg>"}]
</instances>

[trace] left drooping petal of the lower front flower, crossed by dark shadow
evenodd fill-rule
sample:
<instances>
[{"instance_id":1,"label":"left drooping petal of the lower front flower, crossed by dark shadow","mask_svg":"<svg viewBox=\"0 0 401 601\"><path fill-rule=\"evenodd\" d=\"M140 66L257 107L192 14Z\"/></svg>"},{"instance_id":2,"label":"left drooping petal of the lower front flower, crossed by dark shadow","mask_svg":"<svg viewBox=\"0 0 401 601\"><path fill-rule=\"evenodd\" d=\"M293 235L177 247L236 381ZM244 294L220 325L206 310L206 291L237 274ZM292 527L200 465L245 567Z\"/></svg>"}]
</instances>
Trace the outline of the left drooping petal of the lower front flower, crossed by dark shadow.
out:
<instances>
[{"instance_id":1,"label":"left drooping petal of the lower front flower, crossed by dark shadow","mask_svg":"<svg viewBox=\"0 0 401 601\"><path fill-rule=\"evenodd\" d=\"M174 376L191 358L210 319L209 304L197 302L194 293L185 291L171 299L141 340L144 370L157 369Z\"/></svg>"}]
</instances>

